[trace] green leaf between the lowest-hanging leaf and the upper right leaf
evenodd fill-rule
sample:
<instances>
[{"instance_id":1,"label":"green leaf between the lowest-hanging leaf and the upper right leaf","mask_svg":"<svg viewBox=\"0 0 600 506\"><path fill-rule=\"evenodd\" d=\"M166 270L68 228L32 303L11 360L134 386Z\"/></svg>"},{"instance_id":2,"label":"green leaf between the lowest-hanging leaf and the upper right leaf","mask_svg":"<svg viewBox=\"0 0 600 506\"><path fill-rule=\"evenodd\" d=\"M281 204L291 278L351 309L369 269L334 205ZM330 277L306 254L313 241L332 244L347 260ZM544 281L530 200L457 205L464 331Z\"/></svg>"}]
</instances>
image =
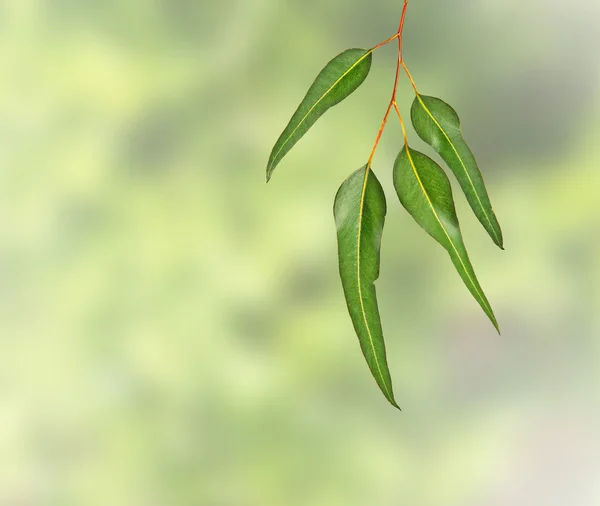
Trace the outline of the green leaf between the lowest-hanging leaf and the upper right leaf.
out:
<instances>
[{"instance_id":1,"label":"green leaf between the lowest-hanging leaf and the upper right leaf","mask_svg":"<svg viewBox=\"0 0 600 506\"><path fill-rule=\"evenodd\" d=\"M467 288L498 328L498 322L467 255L452 198L450 180L431 158L405 147L394 164L394 186L415 221L450 254Z\"/></svg>"}]
</instances>

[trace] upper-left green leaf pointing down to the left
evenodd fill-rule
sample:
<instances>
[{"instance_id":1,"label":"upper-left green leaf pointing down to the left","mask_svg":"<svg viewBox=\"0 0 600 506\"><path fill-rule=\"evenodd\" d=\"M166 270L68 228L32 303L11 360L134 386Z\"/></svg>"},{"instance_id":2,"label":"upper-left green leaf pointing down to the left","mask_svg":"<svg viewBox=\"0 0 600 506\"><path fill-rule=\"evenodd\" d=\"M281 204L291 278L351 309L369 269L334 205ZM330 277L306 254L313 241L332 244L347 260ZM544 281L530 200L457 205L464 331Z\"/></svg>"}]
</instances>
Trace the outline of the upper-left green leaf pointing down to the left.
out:
<instances>
[{"instance_id":1,"label":"upper-left green leaf pointing down to the left","mask_svg":"<svg viewBox=\"0 0 600 506\"><path fill-rule=\"evenodd\" d=\"M267 181L282 158L310 127L364 82L372 60L371 49L348 49L325 66L275 143L267 164Z\"/></svg>"}]
</instances>

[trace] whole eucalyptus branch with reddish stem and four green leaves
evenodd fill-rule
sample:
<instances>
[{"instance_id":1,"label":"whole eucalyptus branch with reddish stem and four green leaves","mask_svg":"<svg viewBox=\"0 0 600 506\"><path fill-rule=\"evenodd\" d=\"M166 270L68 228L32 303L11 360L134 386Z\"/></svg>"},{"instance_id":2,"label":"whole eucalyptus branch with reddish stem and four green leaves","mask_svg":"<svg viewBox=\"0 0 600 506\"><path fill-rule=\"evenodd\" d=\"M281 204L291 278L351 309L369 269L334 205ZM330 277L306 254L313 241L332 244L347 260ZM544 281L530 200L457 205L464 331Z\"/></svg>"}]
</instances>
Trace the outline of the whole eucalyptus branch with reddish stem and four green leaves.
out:
<instances>
[{"instance_id":1,"label":"whole eucalyptus branch with reddish stem and four green leaves","mask_svg":"<svg viewBox=\"0 0 600 506\"><path fill-rule=\"evenodd\" d=\"M431 158L409 147L405 122L396 98L401 69L413 90L410 117L417 135L431 146L457 178L474 214L494 243L503 248L500 225L492 209L477 162L463 138L458 115L439 98L421 95L402 55L408 0L404 1L397 32L371 49L348 49L331 60L309 88L300 106L275 143L267 164L267 181L290 149L331 107L354 93L367 78L373 53L397 40L398 58L392 96L377 131L366 164L342 184L334 202L339 270L350 318L365 360L384 396L398 407L387 365L375 281L379 277L380 247L387 203L373 169L373 159L389 115L395 110L404 146L393 167L393 180L401 204L414 220L450 255L458 274L484 313L498 330L462 239L450 180Z\"/></svg>"}]
</instances>

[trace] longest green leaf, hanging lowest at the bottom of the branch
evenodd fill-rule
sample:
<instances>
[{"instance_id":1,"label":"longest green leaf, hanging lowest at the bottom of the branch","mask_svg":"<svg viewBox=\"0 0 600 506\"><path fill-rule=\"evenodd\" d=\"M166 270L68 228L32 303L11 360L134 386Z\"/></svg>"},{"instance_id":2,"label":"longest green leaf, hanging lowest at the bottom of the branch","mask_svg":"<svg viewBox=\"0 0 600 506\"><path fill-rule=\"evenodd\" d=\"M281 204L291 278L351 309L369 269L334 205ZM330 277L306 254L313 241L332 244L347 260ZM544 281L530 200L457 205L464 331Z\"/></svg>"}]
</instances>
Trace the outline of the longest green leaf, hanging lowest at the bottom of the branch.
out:
<instances>
[{"instance_id":1,"label":"longest green leaf, hanging lowest at the bottom of the branch","mask_svg":"<svg viewBox=\"0 0 600 506\"><path fill-rule=\"evenodd\" d=\"M381 184L364 166L352 173L338 190L333 214L340 276L360 347L383 395L398 408L387 366L374 285L379 277L379 250L386 210Z\"/></svg>"}]
</instances>

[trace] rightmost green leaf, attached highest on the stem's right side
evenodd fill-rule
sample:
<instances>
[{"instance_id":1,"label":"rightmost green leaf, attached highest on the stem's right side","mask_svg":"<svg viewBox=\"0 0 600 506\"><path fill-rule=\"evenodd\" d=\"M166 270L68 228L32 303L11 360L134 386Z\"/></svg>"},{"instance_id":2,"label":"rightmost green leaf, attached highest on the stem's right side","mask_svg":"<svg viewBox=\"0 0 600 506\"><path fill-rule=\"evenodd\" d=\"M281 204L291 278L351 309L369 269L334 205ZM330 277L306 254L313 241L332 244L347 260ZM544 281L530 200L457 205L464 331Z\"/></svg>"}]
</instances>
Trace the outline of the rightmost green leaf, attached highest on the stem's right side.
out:
<instances>
[{"instance_id":1,"label":"rightmost green leaf, attached highest on the stem's right side","mask_svg":"<svg viewBox=\"0 0 600 506\"><path fill-rule=\"evenodd\" d=\"M412 105L411 119L419 137L435 149L454 172L473 212L490 237L504 249L502 230L454 109L439 98L417 95Z\"/></svg>"}]
</instances>

